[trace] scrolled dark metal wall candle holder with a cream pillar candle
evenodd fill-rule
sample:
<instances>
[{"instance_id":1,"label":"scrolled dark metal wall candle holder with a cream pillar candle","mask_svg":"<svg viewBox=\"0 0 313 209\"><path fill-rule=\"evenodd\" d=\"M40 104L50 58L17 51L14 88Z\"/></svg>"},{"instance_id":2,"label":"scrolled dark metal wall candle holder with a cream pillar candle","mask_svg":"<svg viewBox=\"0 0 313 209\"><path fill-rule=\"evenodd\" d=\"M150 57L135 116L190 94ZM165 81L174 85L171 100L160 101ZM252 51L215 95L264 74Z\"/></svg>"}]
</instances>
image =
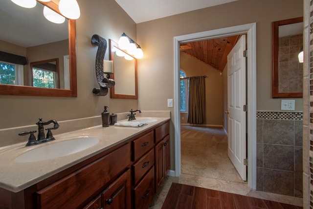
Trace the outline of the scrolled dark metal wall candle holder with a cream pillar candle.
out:
<instances>
[{"instance_id":1,"label":"scrolled dark metal wall candle holder with a cream pillar candle","mask_svg":"<svg viewBox=\"0 0 313 209\"><path fill-rule=\"evenodd\" d=\"M108 94L108 88L112 88L115 85L115 81L110 78L110 74L113 73L113 62L109 60L104 60L104 55L107 50L107 41L99 35L94 34L91 37L91 44L98 45L98 50L96 54L96 78L100 89L94 88L92 90L95 96L105 96ZM104 74L107 74L106 78Z\"/></svg>"}]
</instances>

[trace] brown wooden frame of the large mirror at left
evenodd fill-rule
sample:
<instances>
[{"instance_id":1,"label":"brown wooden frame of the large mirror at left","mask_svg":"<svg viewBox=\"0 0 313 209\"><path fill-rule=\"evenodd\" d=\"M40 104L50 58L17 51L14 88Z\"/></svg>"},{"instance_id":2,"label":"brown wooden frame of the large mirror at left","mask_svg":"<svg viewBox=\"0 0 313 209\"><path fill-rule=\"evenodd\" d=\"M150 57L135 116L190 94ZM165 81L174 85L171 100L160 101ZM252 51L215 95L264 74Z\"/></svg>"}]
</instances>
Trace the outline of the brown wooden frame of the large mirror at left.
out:
<instances>
[{"instance_id":1,"label":"brown wooden frame of the large mirror at left","mask_svg":"<svg viewBox=\"0 0 313 209\"><path fill-rule=\"evenodd\" d=\"M38 1L38 0L37 0ZM58 4L48 1L42 3L60 14ZM28 96L60 96L77 97L77 73L76 73L76 22L68 20L68 47L69 47L69 83L70 89L48 89L32 86L18 86L0 84L0 94L5 95L28 95Z\"/></svg>"}]
</instances>

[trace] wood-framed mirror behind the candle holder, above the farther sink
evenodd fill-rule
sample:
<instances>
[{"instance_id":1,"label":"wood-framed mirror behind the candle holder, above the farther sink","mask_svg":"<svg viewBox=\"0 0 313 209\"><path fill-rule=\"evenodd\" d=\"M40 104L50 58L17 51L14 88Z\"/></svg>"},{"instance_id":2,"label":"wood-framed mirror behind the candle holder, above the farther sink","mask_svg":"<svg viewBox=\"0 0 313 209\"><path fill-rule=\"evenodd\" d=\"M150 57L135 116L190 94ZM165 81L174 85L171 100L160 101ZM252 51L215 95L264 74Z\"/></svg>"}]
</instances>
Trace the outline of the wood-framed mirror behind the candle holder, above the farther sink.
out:
<instances>
[{"instance_id":1,"label":"wood-framed mirror behind the candle holder, above the farther sink","mask_svg":"<svg viewBox=\"0 0 313 209\"><path fill-rule=\"evenodd\" d=\"M117 99L137 99L137 59L126 60L123 56L117 56L118 48L116 42L109 39L110 60L113 60L113 74L111 78L115 86L110 89L110 97ZM121 50L122 51L122 50ZM126 53L125 51L123 53ZM131 56L131 55L130 55Z\"/></svg>"}]
</instances>

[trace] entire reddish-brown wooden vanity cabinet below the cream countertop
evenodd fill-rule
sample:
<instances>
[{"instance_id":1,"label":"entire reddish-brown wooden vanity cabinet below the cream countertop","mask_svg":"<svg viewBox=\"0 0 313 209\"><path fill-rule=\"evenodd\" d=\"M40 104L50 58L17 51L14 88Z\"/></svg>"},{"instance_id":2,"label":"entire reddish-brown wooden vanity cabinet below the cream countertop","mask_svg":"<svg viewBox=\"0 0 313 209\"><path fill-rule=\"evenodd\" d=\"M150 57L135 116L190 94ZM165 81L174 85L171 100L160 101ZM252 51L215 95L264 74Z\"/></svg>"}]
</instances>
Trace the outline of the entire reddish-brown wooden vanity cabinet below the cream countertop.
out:
<instances>
[{"instance_id":1,"label":"entire reddish-brown wooden vanity cabinet below the cream countertop","mask_svg":"<svg viewBox=\"0 0 313 209\"><path fill-rule=\"evenodd\" d=\"M169 139L167 121L23 191L0 188L0 208L148 209L170 168Z\"/></svg>"}]
</instances>

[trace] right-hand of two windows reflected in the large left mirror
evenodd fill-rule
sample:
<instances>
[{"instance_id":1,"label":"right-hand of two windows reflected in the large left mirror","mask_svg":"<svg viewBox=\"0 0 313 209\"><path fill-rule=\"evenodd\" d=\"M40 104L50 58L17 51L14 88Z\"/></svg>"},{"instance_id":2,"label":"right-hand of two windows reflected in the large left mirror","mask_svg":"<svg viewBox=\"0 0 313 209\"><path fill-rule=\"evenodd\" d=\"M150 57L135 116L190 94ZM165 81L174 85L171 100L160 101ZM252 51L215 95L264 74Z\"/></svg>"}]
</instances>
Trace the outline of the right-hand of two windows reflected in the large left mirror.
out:
<instances>
[{"instance_id":1,"label":"right-hand of two windows reflected in the large left mirror","mask_svg":"<svg viewBox=\"0 0 313 209\"><path fill-rule=\"evenodd\" d=\"M53 89L55 85L55 72L33 68L33 86Z\"/></svg>"}]
</instances>

